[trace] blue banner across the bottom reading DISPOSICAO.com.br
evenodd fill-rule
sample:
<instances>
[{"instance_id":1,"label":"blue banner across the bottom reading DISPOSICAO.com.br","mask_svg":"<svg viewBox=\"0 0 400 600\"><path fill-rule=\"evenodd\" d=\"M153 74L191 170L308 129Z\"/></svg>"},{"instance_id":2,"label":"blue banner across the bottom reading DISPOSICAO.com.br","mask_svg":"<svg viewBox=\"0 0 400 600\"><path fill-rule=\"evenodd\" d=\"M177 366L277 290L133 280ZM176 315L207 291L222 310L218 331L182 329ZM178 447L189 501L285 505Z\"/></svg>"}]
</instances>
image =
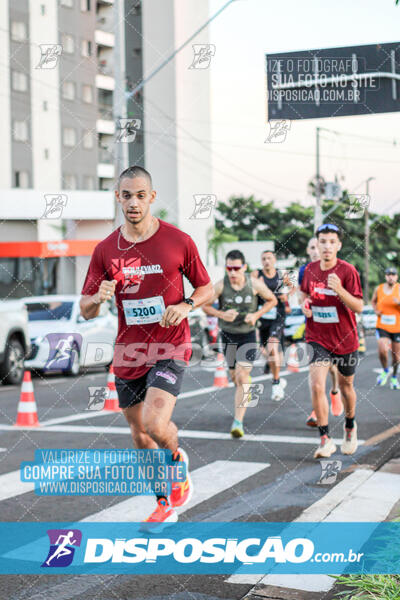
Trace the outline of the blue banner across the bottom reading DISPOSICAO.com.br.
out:
<instances>
[{"instance_id":1,"label":"blue banner across the bottom reading DISPOSICAO.com.br","mask_svg":"<svg viewBox=\"0 0 400 600\"><path fill-rule=\"evenodd\" d=\"M0 573L400 573L400 523L0 523Z\"/></svg>"}]
</instances>

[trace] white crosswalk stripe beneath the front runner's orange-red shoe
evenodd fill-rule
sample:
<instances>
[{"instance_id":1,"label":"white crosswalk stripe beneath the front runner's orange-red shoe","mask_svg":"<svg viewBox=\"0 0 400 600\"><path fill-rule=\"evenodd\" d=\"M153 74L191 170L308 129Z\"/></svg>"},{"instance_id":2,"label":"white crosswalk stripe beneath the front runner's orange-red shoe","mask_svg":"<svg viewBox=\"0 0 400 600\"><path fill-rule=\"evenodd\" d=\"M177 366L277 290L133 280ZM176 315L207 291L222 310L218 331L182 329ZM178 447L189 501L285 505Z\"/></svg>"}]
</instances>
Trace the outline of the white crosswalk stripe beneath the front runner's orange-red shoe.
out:
<instances>
[{"instance_id":1,"label":"white crosswalk stripe beneath the front runner's orange-red shoe","mask_svg":"<svg viewBox=\"0 0 400 600\"><path fill-rule=\"evenodd\" d=\"M252 475L263 471L270 466L269 463L216 460L199 467L191 472L194 485L194 494L186 506L177 509L179 514L190 510L194 506L209 500ZM82 521L107 521L126 522L143 521L156 507L152 496L134 496L118 504L110 506L97 513L89 515Z\"/></svg>"}]
</instances>

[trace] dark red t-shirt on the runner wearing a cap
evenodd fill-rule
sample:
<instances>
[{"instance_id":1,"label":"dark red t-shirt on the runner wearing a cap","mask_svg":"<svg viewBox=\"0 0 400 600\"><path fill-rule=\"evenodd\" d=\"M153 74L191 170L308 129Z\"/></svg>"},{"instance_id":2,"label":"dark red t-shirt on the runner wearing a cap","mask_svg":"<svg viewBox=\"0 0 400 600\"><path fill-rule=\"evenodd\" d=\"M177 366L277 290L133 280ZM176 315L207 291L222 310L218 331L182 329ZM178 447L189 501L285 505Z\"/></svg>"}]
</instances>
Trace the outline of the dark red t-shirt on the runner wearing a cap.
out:
<instances>
[{"instance_id":1,"label":"dark red t-shirt on the runner wearing a cap","mask_svg":"<svg viewBox=\"0 0 400 600\"><path fill-rule=\"evenodd\" d=\"M306 342L317 342L335 354L349 354L358 348L356 316L328 288L328 275L335 273L342 286L352 296L362 298L357 269L345 260L337 259L331 269L322 271L320 261L308 263L300 289L310 296L312 317L306 319Z\"/></svg>"}]
</instances>

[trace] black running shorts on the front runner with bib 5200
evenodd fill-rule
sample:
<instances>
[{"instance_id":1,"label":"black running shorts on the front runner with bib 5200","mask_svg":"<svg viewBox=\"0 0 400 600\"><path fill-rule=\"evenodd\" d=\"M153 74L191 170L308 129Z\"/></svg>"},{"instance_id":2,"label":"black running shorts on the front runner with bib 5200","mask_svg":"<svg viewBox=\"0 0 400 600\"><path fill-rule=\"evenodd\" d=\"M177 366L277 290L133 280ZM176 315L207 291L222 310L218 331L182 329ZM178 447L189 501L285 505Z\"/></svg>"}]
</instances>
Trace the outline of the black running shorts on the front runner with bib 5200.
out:
<instances>
[{"instance_id":1,"label":"black running shorts on the front runner with bib 5200","mask_svg":"<svg viewBox=\"0 0 400 600\"><path fill-rule=\"evenodd\" d=\"M181 390L185 363L173 358L159 360L147 373L138 379L115 377L119 407L128 408L143 402L149 387L156 387L173 396Z\"/></svg>"}]
</instances>

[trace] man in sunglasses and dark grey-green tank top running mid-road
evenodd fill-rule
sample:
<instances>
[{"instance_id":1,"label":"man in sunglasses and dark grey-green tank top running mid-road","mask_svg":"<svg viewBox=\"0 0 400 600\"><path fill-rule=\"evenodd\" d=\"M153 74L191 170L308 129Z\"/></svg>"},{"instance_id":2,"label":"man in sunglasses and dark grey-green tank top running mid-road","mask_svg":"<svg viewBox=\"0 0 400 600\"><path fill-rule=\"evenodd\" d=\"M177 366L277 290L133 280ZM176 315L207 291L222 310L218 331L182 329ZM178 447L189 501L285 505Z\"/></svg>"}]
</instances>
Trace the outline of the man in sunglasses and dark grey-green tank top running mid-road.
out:
<instances>
[{"instance_id":1,"label":"man in sunglasses and dark grey-green tank top running mid-road","mask_svg":"<svg viewBox=\"0 0 400 600\"><path fill-rule=\"evenodd\" d=\"M231 435L244 435L243 418L248 404L243 384L251 382L252 363L256 359L256 323L277 304L275 295L265 283L246 273L247 264L240 250L231 250L225 258L226 274L214 286L214 297L202 308L207 315L218 317L223 352L235 384L235 417ZM258 296L264 304L257 308ZM218 300L219 309L212 306Z\"/></svg>"}]
</instances>

